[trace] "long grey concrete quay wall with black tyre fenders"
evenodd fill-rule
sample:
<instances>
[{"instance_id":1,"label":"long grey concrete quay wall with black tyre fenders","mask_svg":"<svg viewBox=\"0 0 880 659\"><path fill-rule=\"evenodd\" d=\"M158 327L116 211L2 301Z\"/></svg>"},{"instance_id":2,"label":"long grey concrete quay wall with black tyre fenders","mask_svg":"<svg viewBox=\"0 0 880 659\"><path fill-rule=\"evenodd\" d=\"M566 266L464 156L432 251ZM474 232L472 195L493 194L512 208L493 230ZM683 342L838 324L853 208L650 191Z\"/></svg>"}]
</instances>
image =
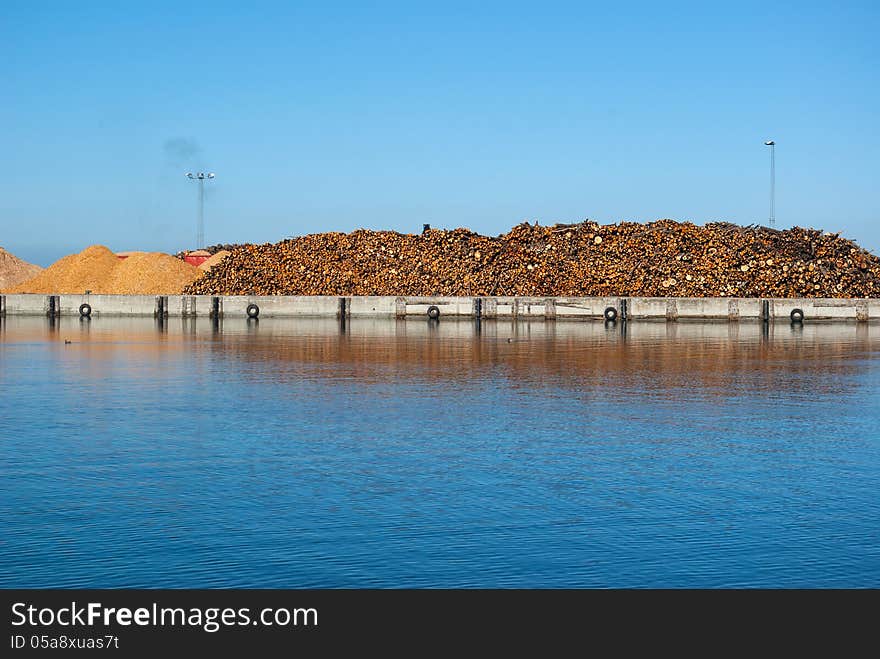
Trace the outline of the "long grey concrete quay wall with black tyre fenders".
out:
<instances>
[{"instance_id":1,"label":"long grey concrete quay wall with black tyre fenders","mask_svg":"<svg viewBox=\"0 0 880 659\"><path fill-rule=\"evenodd\" d=\"M84 307L83 305L88 305ZM647 297L394 297L259 295L2 295L0 314L33 316L151 316L182 318L440 318L618 321L786 321L880 319L880 299ZM250 311L249 311L250 310Z\"/></svg>"}]
</instances>

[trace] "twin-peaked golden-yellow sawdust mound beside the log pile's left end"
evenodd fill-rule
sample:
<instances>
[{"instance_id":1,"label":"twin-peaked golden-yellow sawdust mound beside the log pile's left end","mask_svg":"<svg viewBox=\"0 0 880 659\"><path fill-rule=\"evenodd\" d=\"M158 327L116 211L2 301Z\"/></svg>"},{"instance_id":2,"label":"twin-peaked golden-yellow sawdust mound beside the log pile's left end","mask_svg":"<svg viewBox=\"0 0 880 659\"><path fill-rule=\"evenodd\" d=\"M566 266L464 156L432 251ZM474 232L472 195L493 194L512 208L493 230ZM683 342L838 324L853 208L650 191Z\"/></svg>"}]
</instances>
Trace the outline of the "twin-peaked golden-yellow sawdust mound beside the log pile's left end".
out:
<instances>
[{"instance_id":1,"label":"twin-peaked golden-yellow sawdust mound beside the log pile's left end","mask_svg":"<svg viewBox=\"0 0 880 659\"><path fill-rule=\"evenodd\" d=\"M174 295L202 275L196 267L161 252L132 252L119 259L103 245L56 261L7 293Z\"/></svg>"}]
</instances>

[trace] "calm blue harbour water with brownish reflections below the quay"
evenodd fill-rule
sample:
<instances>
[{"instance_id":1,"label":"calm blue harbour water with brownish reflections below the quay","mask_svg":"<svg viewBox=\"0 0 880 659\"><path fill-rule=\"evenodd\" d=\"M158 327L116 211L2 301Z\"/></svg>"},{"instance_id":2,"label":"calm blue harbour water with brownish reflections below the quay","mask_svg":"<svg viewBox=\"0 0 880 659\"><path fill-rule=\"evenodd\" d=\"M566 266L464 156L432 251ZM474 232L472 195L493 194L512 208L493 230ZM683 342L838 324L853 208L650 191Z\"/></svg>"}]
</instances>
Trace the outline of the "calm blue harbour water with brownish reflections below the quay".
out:
<instances>
[{"instance_id":1,"label":"calm blue harbour water with brownish reflections below the quay","mask_svg":"<svg viewBox=\"0 0 880 659\"><path fill-rule=\"evenodd\" d=\"M0 586L880 587L878 349L6 318Z\"/></svg>"}]
</instances>

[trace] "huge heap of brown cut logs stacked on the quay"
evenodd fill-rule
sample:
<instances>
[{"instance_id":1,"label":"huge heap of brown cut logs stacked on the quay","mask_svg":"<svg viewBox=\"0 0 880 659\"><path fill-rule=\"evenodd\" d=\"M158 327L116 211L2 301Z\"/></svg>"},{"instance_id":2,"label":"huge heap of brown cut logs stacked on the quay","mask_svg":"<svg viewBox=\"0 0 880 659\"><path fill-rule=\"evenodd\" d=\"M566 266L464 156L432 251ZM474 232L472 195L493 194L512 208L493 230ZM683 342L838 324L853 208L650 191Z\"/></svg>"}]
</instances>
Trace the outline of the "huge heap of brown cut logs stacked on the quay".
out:
<instances>
[{"instance_id":1,"label":"huge heap of brown cut logs stacked on the quay","mask_svg":"<svg viewBox=\"0 0 880 659\"><path fill-rule=\"evenodd\" d=\"M880 297L880 259L838 234L726 223L362 230L238 247L185 293Z\"/></svg>"}]
</instances>

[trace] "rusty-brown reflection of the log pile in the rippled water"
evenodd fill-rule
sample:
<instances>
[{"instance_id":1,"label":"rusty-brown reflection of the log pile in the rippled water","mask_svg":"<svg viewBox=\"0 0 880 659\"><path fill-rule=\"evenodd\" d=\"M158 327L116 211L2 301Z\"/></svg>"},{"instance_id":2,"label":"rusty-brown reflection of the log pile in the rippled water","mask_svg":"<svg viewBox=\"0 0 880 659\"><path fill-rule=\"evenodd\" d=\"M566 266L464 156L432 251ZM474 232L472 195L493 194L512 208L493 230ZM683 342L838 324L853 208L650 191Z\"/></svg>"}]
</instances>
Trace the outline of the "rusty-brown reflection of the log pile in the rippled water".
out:
<instances>
[{"instance_id":1,"label":"rusty-brown reflection of the log pile in the rippled water","mask_svg":"<svg viewBox=\"0 0 880 659\"><path fill-rule=\"evenodd\" d=\"M506 325L506 324L505 324ZM466 325L468 330L472 326ZM392 335L349 336L313 329L301 336L228 334L209 344L213 359L249 364L245 379L275 382L309 380L319 372L327 381L364 385L426 385L516 389L524 396L550 387L578 392L664 390L670 396L729 398L741 392L803 391L810 396L846 393L850 376L866 368L865 351L878 338L867 333L803 336L789 327L762 339L758 323L733 332L726 325L702 332L699 326L642 326L638 339L601 324L566 325L517 338L456 333L443 337L400 328ZM267 375L267 371L269 375ZM252 375L250 375L251 373ZM491 383L491 384L490 384ZM848 384L847 384L848 383ZM741 389L739 389L741 388ZM701 392L701 393L700 393Z\"/></svg>"}]
</instances>

